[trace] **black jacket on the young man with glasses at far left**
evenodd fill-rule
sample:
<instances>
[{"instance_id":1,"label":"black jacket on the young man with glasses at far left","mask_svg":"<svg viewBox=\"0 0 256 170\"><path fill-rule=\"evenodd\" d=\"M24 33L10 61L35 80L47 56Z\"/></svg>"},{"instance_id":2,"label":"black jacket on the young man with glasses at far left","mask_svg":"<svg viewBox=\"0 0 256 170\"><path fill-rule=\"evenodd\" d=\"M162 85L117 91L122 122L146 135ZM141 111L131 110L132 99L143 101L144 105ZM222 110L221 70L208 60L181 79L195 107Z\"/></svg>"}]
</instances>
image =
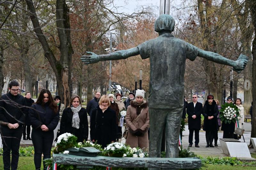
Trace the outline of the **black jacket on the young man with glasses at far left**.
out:
<instances>
[{"instance_id":1,"label":"black jacket on the young man with glasses at far left","mask_svg":"<svg viewBox=\"0 0 256 170\"><path fill-rule=\"evenodd\" d=\"M4 94L0 98L0 121L24 124L28 109L23 106L27 106L27 103L22 95L14 96L11 92Z\"/></svg>"}]
</instances>

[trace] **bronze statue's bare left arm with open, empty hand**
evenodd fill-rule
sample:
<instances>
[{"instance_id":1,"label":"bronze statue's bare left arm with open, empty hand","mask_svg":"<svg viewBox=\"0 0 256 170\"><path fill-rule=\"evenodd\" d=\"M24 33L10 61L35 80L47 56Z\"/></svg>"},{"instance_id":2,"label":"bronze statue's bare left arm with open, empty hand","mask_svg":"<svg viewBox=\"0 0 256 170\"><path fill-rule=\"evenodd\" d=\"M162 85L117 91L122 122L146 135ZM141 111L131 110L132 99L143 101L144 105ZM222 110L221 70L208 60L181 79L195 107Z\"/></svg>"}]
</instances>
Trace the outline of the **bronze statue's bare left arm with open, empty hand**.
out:
<instances>
[{"instance_id":1,"label":"bronze statue's bare left arm with open, empty hand","mask_svg":"<svg viewBox=\"0 0 256 170\"><path fill-rule=\"evenodd\" d=\"M92 63L97 63L99 61L126 59L131 56L139 55L140 51L139 51L139 48L134 47L134 48L115 51L113 53L103 54L103 55L97 55L95 53L87 52L87 51L86 51L86 53L91 54L91 55L83 55L80 58L80 60L84 64L92 64Z\"/></svg>"}]
</instances>

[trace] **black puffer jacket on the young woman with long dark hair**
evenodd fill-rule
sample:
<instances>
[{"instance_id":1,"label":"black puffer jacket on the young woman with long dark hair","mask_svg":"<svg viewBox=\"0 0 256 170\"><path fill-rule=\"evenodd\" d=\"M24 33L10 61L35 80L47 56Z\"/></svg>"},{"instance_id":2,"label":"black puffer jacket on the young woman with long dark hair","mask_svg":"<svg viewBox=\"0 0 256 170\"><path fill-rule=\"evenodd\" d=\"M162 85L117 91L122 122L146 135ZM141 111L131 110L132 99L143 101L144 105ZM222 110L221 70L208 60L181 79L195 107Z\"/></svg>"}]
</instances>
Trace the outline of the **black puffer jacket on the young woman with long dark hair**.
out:
<instances>
[{"instance_id":1,"label":"black puffer jacket on the young woman with long dark hair","mask_svg":"<svg viewBox=\"0 0 256 170\"><path fill-rule=\"evenodd\" d=\"M57 127L60 118L59 112L54 113L52 108L49 107L49 103L46 103L44 107L39 104L33 104L29 108L28 116L32 128L40 129L41 125L44 124L49 128L49 131Z\"/></svg>"}]
</instances>

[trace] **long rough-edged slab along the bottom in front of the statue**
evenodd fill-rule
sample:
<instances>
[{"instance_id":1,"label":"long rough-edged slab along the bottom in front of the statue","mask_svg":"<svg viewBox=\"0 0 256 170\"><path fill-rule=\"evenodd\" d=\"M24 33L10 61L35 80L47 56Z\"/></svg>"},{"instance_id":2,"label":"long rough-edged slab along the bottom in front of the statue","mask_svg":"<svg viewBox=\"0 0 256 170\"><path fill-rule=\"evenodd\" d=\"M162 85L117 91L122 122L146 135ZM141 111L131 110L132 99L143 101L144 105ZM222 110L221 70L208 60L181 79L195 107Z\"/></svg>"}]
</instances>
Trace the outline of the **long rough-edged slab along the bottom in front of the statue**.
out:
<instances>
[{"instance_id":1,"label":"long rough-edged slab along the bottom in front of the statue","mask_svg":"<svg viewBox=\"0 0 256 170\"><path fill-rule=\"evenodd\" d=\"M86 157L68 154L53 154L53 162L64 165L110 166L110 167L150 167L162 169L195 169L201 167L198 158L116 158Z\"/></svg>"}]
</instances>

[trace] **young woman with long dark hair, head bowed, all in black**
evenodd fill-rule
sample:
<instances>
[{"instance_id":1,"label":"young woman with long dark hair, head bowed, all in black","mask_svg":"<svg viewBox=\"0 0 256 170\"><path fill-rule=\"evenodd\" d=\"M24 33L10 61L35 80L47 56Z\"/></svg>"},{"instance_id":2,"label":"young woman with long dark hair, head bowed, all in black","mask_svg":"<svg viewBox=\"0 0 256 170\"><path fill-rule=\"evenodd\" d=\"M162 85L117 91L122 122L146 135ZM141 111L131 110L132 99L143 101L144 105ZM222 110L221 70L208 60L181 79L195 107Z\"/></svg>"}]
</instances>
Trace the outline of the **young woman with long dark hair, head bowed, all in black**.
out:
<instances>
[{"instance_id":1,"label":"young woman with long dark hair, head bowed, all in black","mask_svg":"<svg viewBox=\"0 0 256 170\"><path fill-rule=\"evenodd\" d=\"M60 115L58 106L47 89L40 92L36 103L31 106L28 113L32 125L31 138L35 149L34 163L37 170L41 168L42 153L43 160L51 158L53 130L58 125Z\"/></svg>"}]
</instances>

